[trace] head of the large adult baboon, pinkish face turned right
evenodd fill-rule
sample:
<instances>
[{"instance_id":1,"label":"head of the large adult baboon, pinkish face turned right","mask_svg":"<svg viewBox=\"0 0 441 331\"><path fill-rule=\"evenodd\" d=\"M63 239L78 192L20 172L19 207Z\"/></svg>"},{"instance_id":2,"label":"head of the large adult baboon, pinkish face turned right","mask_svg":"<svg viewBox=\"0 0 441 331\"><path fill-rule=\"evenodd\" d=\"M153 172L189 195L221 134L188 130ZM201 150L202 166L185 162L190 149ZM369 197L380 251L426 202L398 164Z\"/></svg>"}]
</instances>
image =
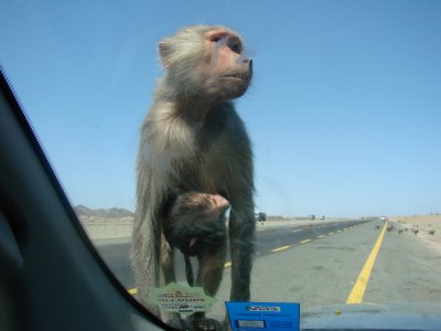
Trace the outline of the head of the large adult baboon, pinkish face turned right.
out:
<instances>
[{"instance_id":1,"label":"head of the large adult baboon, pinkish face turned right","mask_svg":"<svg viewBox=\"0 0 441 331\"><path fill-rule=\"evenodd\" d=\"M240 36L223 26L193 26L163 39L161 62L181 97L216 104L241 96L252 76Z\"/></svg>"}]
</instances>

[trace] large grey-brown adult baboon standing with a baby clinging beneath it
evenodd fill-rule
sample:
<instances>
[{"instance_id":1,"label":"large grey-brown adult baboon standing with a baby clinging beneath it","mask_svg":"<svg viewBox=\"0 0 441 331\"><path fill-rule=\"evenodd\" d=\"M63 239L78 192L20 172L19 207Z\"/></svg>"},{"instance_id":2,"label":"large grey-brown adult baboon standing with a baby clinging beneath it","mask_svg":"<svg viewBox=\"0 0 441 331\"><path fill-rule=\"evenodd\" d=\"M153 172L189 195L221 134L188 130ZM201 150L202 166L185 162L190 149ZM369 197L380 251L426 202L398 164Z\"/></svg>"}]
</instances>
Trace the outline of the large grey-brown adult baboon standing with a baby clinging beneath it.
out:
<instances>
[{"instance_id":1,"label":"large grey-brown adult baboon standing with a baby clinging beneath it","mask_svg":"<svg viewBox=\"0 0 441 331\"><path fill-rule=\"evenodd\" d=\"M138 298L159 314L147 303L149 289L175 281L173 247L180 245L170 238L178 225L168 228L169 242L163 224L176 192L193 191L229 202L230 299L249 300L255 233L252 152L232 99L247 90L252 62L244 55L241 38L224 26L184 28L163 39L159 53L165 73L141 127L137 166L133 267ZM178 234L178 238L186 235ZM208 296L217 292L222 280L226 256L222 243L211 249L203 246L197 254L196 285ZM162 314L162 319L186 325L176 313ZM191 320L204 319L197 313Z\"/></svg>"}]
</instances>

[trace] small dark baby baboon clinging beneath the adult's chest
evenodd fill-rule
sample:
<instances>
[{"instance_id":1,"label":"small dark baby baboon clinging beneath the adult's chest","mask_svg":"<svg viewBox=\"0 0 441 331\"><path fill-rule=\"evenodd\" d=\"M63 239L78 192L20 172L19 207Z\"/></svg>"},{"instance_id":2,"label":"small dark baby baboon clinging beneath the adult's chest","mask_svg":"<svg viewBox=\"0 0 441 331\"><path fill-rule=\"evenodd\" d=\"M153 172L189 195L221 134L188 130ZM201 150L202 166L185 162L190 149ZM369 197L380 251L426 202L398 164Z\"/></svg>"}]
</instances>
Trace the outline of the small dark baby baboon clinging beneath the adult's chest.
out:
<instances>
[{"instance_id":1,"label":"small dark baby baboon clinging beneath the adult's chest","mask_svg":"<svg viewBox=\"0 0 441 331\"><path fill-rule=\"evenodd\" d=\"M220 195L192 191L179 194L169 209L162 231L169 244L183 253L191 286L194 275L190 256L203 258L207 252L225 252L219 247L227 245L225 211L228 206L228 201Z\"/></svg>"}]
</instances>

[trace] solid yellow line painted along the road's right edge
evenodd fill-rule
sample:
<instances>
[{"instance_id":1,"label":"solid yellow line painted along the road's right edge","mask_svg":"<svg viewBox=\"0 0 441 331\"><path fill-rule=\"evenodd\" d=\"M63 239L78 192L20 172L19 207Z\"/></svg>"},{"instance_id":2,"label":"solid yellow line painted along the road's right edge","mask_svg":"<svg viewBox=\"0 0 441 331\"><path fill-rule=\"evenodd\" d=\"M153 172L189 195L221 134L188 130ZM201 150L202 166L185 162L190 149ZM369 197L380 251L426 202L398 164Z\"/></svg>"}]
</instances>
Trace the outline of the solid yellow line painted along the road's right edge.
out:
<instances>
[{"instance_id":1,"label":"solid yellow line painted along the road's right edge","mask_svg":"<svg viewBox=\"0 0 441 331\"><path fill-rule=\"evenodd\" d=\"M370 252L369 257L367 258L362 269L362 273L359 273L357 281L355 281L351 295L347 297L346 303L362 303L363 296L365 295L366 291L367 282L369 281L372 269L374 268L375 259L377 258L379 247L381 246L383 238L385 237L386 234L386 229L387 229L387 223L385 224L385 227L383 227L383 231L379 234L378 239L375 243L375 246Z\"/></svg>"}]
</instances>

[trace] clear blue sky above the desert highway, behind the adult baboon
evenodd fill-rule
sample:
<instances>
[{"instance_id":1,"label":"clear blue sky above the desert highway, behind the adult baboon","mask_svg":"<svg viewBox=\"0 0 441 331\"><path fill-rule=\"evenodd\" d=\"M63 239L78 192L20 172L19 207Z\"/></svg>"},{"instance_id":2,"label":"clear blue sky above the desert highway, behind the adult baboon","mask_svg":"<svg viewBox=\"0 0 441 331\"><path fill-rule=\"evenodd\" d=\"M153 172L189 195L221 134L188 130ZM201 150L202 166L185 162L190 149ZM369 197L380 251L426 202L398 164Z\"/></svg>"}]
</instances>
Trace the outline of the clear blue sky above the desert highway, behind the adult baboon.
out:
<instances>
[{"instance_id":1,"label":"clear blue sky above the desert highway, behind the adult baboon","mask_svg":"<svg viewBox=\"0 0 441 331\"><path fill-rule=\"evenodd\" d=\"M183 25L240 31L257 209L441 213L440 1L8 1L0 62L74 204L135 206L140 124Z\"/></svg>"}]
</instances>

